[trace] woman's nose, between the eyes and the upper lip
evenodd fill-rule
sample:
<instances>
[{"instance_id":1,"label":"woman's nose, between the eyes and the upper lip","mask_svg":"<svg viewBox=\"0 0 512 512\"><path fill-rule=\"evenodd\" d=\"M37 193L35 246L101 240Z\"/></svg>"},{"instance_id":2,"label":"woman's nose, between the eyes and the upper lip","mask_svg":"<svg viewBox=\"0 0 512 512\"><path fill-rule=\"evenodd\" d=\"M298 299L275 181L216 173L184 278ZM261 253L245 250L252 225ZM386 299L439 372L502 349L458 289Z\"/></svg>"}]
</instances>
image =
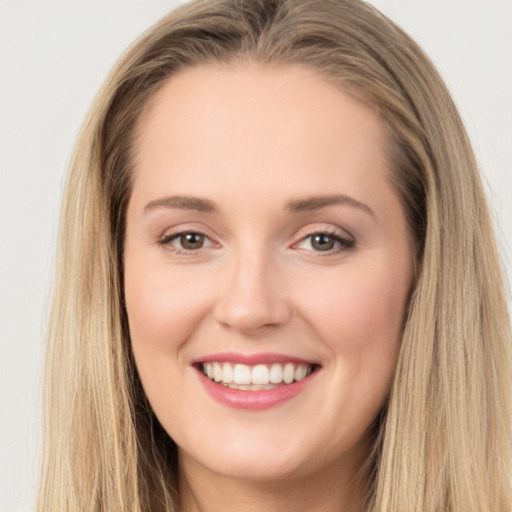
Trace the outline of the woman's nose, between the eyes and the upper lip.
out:
<instances>
[{"instance_id":1,"label":"woman's nose, between the eyes and the upper lip","mask_svg":"<svg viewBox=\"0 0 512 512\"><path fill-rule=\"evenodd\" d=\"M246 334L285 324L291 308L271 258L251 254L230 263L214 309L217 322Z\"/></svg>"}]
</instances>

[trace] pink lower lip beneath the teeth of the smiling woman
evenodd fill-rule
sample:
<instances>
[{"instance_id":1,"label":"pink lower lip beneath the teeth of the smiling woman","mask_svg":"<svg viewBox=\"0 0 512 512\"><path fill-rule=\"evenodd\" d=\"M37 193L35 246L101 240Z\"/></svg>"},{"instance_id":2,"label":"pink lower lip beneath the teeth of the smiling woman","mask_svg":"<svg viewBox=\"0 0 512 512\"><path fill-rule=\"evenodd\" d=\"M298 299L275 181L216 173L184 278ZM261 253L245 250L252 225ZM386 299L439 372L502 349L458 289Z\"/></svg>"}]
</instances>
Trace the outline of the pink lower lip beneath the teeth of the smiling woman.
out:
<instances>
[{"instance_id":1,"label":"pink lower lip beneath the teeth of the smiling woman","mask_svg":"<svg viewBox=\"0 0 512 512\"><path fill-rule=\"evenodd\" d=\"M308 377L293 384L284 384L260 391L246 391L243 389L231 389L218 384L198 370L201 383L214 400L234 409L249 409L253 411L270 409L294 398L308 386L317 373L315 371Z\"/></svg>"}]
</instances>

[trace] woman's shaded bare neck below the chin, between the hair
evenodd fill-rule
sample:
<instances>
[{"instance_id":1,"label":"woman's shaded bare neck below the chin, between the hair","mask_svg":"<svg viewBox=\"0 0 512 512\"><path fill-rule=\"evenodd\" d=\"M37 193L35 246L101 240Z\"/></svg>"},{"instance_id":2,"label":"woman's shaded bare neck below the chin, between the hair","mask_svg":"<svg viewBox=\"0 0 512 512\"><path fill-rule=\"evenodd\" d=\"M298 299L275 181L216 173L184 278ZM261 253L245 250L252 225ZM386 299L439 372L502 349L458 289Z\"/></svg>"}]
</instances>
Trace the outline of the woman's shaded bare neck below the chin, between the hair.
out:
<instances>
[{"instance_id":1,"label":"woman's shaded bare neck below the chin, between the hair","mask_svg":"<svg viewBox=\"0 0 512 512\"><path fill-rule=\"evenodd\" d=\"M339 461L294 478L240 480L180 458L180 512L361 512L368 479L362 464Z\"/></svg>"}]
</instances>

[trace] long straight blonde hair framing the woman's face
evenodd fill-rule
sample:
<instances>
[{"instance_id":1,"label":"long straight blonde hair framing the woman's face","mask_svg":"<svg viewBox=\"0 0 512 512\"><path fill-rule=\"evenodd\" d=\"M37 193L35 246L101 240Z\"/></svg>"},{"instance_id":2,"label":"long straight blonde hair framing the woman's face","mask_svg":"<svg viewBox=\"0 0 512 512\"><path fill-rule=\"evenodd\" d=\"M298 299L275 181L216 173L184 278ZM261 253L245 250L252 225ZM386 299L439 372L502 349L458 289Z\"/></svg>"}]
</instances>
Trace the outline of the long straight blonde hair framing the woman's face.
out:
<instances>
[{"instance_id":1,"label":"long straight blonde hair framing the woman's face","mask_svg":"<svg viewBox=\"0 0 512 512\"><path fill-rule=\"evenodd\" d=\"M138 40L98 94L62 211L38 510L175 511L176 447L130 351L123 238L136 123L180 69L299 63L371 105L416 252L396 374L376 420L366 512L512 509L511 336L477 165L420 48L359 0L198 0Z\"/></svg>"}]
</instances>

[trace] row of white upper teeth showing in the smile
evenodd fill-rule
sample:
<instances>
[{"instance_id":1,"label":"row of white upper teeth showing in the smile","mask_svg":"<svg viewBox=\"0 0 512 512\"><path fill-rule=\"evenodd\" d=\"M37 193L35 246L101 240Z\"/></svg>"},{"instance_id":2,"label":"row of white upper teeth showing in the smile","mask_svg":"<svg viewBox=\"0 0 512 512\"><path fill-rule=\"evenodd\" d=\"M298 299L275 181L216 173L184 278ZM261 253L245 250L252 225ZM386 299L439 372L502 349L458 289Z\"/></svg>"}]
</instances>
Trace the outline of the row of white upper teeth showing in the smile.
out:
<instances>
[{"instance_id":1,"label":"row of white upper teeth showing in the smile","mask_svg":"<svg viewBox=\"0 0 512 512\"><path fill-rule=\"evenodd\" d=\"M310 364L274 363L271 365L231 364L212 362L203 364L203 372L215 382L235 385L291 384L311 373Z\"/></svg>"}]
</instances>

